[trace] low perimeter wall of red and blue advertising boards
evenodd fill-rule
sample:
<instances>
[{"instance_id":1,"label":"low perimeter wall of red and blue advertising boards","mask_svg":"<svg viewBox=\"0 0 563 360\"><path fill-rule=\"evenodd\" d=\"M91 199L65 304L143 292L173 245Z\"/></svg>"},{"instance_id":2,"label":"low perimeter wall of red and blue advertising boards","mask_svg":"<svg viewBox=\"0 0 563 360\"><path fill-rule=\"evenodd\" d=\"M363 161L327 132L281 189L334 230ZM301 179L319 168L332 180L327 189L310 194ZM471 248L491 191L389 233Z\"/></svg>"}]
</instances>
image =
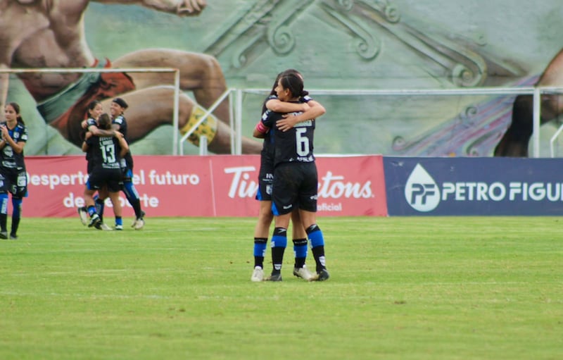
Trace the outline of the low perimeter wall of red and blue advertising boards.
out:
<instances>
[{"instance_id":1,"label":"low perimeter wall of red and blue advertising boards","mask_svg":"<svg viewBox=\"0 0 563 360\"><path fill-rule=\"evenodd\" d=\"M29 156L29 217L72 217L84 204L83 156ZM257 155L135 156L148 216L257 216ZM559 216L557 159L320 156L319 216ZM123 216L133 216L122 195ZM111 204L106 201L106 214Z\"/></svg>"}]
</instances>

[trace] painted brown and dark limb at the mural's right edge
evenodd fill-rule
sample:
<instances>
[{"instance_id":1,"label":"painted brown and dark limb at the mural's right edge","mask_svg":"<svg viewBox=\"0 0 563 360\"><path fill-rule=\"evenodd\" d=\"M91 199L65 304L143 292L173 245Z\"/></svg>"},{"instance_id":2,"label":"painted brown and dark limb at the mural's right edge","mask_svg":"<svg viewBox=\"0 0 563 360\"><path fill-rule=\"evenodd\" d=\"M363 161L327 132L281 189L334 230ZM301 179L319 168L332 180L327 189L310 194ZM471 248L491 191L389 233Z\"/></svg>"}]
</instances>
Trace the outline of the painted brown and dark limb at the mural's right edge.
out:
<instances>
[{"instance_id":1,"label":"painted brown and dark limb at the mural's right edge","mask_svg":"<svg viewBox=\"0 0 563 360\"><path fill-rule=\"evenodd\" d=\"M563 86L563 50L552 58L536 84L538 86ZM541 96L540 124L548 123L563 113L563 96ZM519 95L512 105L512 123L495 147L495 156L527 157L533 133L533 96Z\"/></svg>"}]
</instances>

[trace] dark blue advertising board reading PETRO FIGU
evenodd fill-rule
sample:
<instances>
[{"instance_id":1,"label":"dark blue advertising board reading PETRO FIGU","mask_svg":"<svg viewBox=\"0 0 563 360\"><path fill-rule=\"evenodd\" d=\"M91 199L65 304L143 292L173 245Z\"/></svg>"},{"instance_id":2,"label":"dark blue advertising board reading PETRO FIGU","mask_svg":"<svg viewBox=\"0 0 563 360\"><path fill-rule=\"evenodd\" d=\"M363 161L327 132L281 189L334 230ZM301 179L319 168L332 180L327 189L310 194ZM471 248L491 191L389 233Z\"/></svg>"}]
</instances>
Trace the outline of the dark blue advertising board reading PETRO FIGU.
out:
<instances>
[{"instance_id":1,"label":"dark blue advertising board reading PETRO FIGU","mask_svg":"<svg viewBox=\"0 0 563 360\"><path fill-rule=\"evenodd\" d=\"M389 216L563 215L563 161L384 156Z\"/></svg>"}]
</instances>

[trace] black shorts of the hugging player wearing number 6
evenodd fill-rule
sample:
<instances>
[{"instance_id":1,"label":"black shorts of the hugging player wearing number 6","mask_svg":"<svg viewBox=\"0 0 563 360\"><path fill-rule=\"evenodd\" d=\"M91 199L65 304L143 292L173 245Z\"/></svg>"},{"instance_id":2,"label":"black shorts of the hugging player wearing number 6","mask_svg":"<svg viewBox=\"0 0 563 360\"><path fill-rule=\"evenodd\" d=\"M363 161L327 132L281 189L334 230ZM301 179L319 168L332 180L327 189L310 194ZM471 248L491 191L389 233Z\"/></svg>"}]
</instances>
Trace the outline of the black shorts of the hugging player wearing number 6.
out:
<instances>
[{"instance_id":1,"label":"black shorts of the hugging player wearing number 6","mask_svg":"<svg viewBox=\"0 0 563 360\"><path fill-rule=\"evenodd\" d=\"M317 211L317 166L315 163L281 163L274 170L272 212L291 213L293 209Z\"/></svg>"}]
</instances>

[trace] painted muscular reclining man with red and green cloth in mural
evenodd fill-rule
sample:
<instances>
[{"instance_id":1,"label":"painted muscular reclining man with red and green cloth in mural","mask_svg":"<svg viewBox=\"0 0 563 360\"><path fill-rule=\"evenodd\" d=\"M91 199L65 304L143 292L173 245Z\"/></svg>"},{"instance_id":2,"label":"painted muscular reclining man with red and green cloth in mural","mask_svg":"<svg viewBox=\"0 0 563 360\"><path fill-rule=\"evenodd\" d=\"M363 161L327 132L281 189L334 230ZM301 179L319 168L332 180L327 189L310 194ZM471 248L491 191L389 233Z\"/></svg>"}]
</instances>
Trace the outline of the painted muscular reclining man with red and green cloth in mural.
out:
<instances>
[{"instance_id":1,"label":"painted muscular reclining man with red and green cloth in mural","mask_svg":"<svg viewBox=\"0 0 563 360\"><path fill-rule=\"evenodd\" d=\"M92 0L94 1L94 0ZM99 0L103 4L137 4L179 16L199 15L205 0ZM174 49L141 49L113 61L96 58L84 37L84 12L90 0L0 1L1 68L177 68L180 88L193 92L179 99L179 129L186 133L227 89L222 70L213 56ZM129 141L142 139L160 125L172 124L174 84L172 73L18 73L37 109L65 139L80 146L80 121L87 104L97 99L104 106L114 97L129 104ZM0 105L8 97L7 73L0 73ZM208 149L217 154L231 150L225 100L190 137L198 144L208 137ZM243 154L258 154L259 142L243 137Z\"/></svg>"}]
</instances>

